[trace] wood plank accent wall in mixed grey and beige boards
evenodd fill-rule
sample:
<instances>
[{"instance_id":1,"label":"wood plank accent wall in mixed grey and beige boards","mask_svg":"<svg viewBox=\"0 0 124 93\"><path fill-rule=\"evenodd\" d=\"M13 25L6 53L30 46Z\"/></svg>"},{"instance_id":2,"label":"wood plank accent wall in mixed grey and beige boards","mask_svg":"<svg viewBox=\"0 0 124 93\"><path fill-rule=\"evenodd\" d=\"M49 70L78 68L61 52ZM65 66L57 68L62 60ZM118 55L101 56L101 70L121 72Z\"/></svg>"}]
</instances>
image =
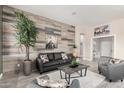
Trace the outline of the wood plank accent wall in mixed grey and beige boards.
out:
<instances>
[{"instance_id":1,"label":"wood plank accent wall in mixed grey and beige boards","mask_svg":"<svg viewBox=\"0 0 124 93\"><path fill-rule=\"evenodd\" d=\"M25 52L17 48L15 39L15 11L22 11L9 6L3 6L3 71L14 71L16 64L22 63ZM38 16L23 11L36 25L39 32L36 47L30 49L31 59L34 60L39 52L71 52L72 45L75 44L75 27L65 23L61 23L46 17ZM46 50L46 34L54 34L58 36L58 48ZM24 50L24 48L23 48ZM34 67L35 68L35 67Z\"/></svg>"}]
</instances>

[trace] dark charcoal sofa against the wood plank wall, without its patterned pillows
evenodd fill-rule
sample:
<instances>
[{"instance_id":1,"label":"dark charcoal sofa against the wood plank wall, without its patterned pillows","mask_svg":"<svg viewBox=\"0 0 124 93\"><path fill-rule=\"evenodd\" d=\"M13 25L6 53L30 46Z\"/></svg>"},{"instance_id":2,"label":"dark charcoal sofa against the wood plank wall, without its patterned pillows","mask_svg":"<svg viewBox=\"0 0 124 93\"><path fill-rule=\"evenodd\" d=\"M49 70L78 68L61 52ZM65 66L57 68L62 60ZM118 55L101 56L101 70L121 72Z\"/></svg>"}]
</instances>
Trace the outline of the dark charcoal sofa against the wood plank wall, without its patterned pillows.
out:
<instances>
[{"instance_id":1,"label":"dark charcoal sofa against the wood plank wall, without its patterned pillows","mask_svg":"<svg viewBox=\"0 0 124 93\"><path fill-rule=\"evenodd\" d=\"M39 53L36 58L36 67L40 74L43 72L51 71L57 69L59 66L70 64L73 59L72 54L67 54L68 59L63 60L61 54L64 52L55 52L55 53ZM43 63L43 60L40 58L40 55L47 54L49 62Z\"/></svg>"}]
</instances>

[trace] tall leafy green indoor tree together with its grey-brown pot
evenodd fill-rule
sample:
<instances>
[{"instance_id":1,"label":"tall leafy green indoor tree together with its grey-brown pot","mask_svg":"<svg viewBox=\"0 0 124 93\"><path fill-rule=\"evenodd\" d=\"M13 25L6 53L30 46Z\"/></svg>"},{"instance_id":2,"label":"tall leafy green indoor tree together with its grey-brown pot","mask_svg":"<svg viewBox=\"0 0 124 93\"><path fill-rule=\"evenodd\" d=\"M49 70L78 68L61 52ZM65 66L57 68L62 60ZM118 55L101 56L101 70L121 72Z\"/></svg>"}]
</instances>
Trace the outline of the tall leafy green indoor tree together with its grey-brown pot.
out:
<instances>
[{"instance_id":1,"label":"tall leafy green indoor tree together with its grey-brown pot","mask_svg":"<svg viewBox=\"0 0 124 93\"><path fill-rule=\"evenodd\" d=\"M37 38L36 27L23 12L15 12L16 15L16 39L17 44L25 47L26 59L24 60L24 74L31 74L31 60L29 58L29 48L34 47Z\"/></svg>"}]
</instances>

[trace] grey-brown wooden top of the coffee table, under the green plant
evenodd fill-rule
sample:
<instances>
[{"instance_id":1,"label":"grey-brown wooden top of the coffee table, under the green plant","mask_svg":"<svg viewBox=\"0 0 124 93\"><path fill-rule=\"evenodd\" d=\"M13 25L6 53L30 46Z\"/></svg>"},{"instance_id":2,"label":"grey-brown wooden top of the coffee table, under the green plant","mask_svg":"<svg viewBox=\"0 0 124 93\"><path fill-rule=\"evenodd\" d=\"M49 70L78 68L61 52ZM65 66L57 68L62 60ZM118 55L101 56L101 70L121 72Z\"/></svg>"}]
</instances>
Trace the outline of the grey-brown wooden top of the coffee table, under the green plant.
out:
<instances>
[{"instance_id":1,"label":"grey-brown wooden top of the coffee table, under the green plant","mask_svg":"<svg viewBox=\"0 0 124 93\"><path fill-rule=\"evenodd\" d=\"M71 64L61 66L61 67L58 67L58 69L63 71L63 72L65 72L66 74L73 74L75 72L78 72L78 71L80 71L82 69L87 69L89 67L89 65L79 64L79 66L77 66L75 68L71 68L70 65Z\"/></svg>"}]
</instances>

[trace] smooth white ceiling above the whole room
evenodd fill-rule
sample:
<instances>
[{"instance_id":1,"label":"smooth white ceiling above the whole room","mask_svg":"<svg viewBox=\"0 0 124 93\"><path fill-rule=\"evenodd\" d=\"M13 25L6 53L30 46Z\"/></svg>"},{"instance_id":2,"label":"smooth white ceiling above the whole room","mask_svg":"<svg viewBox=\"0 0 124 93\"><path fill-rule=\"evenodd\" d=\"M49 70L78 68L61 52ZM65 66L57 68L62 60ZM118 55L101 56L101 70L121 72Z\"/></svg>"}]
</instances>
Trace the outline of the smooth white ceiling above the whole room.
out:
<instances>
[{"instance_id":1,"label":"smooth white ceiling above the whole room","mask_svg":"<svg viewBox=\"0 0 124 93\"><path fill-rule=\"evenodd\" d=\"M75 26L94 26L124 17L124 6L119 5L13 5L12 7ZM72 12L76 12L76 15L72 15Z\"/></svg>"}]
</instances>

